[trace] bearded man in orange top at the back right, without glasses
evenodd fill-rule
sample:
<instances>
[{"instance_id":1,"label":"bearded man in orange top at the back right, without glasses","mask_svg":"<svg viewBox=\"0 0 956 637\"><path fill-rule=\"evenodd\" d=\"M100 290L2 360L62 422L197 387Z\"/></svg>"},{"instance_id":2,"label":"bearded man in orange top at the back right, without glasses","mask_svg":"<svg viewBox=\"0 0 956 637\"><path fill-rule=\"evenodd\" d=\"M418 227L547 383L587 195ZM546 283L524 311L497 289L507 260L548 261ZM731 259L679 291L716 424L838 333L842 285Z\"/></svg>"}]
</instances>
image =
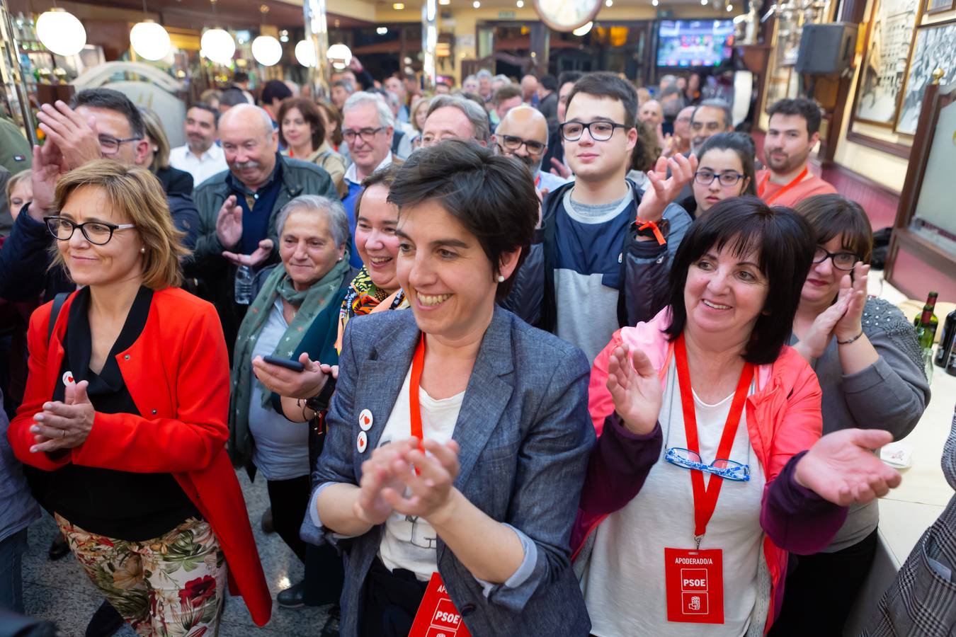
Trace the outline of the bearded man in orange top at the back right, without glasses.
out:
<instances>
[{"instance_id":1,"label":"bearded man in orange top at the back right, without glasses","mask_svg":"<svg viewBox=\"0 0 956 637\"><path fill-rule=\"evenodd\" d=\"M810 153L820 140L820 107L811 99L781 99L767 109L767 170L757 173L757 196L769 205L793 207L836 188L810 172Z\"/></svg>"}]
</instances>

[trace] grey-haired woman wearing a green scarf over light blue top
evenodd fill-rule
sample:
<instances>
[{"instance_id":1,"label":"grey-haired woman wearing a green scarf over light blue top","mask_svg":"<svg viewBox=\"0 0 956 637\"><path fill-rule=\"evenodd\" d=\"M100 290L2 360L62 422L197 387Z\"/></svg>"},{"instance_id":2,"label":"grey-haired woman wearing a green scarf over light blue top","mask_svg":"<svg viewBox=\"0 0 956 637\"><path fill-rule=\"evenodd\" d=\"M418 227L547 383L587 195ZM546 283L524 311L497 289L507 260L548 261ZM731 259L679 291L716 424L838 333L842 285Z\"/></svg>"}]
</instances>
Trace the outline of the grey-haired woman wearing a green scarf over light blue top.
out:
<instances>
[{"instance_id":1,"label":"grey-haired woman wearing a green scarf over light blue top","mask_svg":"<svg viewBox=\"0 0 956 637\"><path fill-rule=\"evenodd\" d=\"M309 425L290 422L277 411L278 396L255 377L252 361L269 365L263 356L292 359L307 350L316 360L336 364L338 308L354 272L347 252L348 218L340 202L296 197L279 211L276 229L282 263L256 275L253 291L258 287L258 293L236 339L228 450L250 477L257 470L266 477L273 527L306 564L310 585L282 591L279 604L315 605L335 601L337 594L315 599L310 566L326 560L314 556L316 547L307 548L298 534L311 491Z\"/></svg>"}]
</instances>

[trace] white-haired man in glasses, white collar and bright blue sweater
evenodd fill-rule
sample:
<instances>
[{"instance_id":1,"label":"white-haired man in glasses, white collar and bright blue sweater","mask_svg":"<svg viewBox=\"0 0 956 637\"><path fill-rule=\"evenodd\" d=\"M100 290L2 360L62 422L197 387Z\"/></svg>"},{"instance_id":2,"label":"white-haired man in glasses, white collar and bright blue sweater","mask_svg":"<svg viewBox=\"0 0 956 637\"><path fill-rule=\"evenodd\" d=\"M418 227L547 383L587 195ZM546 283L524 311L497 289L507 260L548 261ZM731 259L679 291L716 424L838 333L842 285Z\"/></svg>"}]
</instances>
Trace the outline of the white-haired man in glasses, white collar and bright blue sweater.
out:
<instances>
[{"instance_id":1,"label":"white-haired man in glasses, white collar and bright blue sweater","mask_svg":"<svg viewBox=\"0 0 956 637\"><path fill-rule=\"evenodd\" d=\"M401 84L401 80L398 80ZM349 191L342 199L349 215L352 244L349 263L361 267L361 257L356 248L356 199L361 192L361 182L366 177L391 163L401 163L392 155L392 136L395 134L395 117L382 96L365 91L354 93L345 100L342 121L342 138L349 146L352 165L345 171L345 183Z\"/></svg>"}]
</instances>

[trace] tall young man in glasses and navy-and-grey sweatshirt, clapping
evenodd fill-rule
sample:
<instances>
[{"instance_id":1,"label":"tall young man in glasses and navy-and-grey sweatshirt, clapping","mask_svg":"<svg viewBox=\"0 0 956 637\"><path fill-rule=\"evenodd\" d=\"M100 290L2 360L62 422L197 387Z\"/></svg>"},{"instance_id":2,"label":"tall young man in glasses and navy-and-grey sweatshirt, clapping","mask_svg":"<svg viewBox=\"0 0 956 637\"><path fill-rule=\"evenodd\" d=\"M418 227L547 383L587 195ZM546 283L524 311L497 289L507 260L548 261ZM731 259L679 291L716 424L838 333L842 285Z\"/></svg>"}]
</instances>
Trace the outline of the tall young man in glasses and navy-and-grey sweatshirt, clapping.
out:
<instances>
[{"instance_id":1,"label":"tall young man in glasses and navy-and-grey sweatshirt, clapping","mask_svg":"<svg viewBox=\"0 0 956 637\"><path fill-rule=\"evenodd\" d=\"M696 159L659 159L643 195L624 177L638 142L637 114L637 93L619 76L587 74L576 82L559 124L576 180L545 199L543 247L532 247L543 258L522 266L521 296L512 293L506 303L588 360L615 330L659 309L653 281L666 275L690 224L670 202L693 176Z\"/></svg>"}]
</instances>

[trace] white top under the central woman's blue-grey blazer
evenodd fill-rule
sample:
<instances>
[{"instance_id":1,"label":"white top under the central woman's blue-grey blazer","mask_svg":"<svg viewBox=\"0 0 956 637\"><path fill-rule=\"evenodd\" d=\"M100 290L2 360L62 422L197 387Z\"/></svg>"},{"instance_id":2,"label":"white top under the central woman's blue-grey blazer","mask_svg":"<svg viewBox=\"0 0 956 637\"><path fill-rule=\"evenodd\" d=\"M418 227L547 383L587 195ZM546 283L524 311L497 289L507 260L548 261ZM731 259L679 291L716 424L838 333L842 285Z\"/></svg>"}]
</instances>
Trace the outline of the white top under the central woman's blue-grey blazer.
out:
<instances>
[{"instance_id":1,"label":"white top under the central woman's blue-grey blazer","mask_svg":"<svg viewBox=\"0 0 956 637\"><path fill-rule=\"evenodd\" d=\"M411 419L408 409L408 391L411 384L411 369L405 374L402 391L395 407L388 416L381 432L379 446L411 437ZM419 404L422 408L422 435L429 440L445 443L455 433L455 422L462 409L465 392L450 398L435 400L419 388ZM420 582L427 582L438 570L438 534L431 524L419 518L393 512L385 520L384 533L379 546L381 563L389 570L404 568L415 573Z\"/></svg>"}]
</instances>

